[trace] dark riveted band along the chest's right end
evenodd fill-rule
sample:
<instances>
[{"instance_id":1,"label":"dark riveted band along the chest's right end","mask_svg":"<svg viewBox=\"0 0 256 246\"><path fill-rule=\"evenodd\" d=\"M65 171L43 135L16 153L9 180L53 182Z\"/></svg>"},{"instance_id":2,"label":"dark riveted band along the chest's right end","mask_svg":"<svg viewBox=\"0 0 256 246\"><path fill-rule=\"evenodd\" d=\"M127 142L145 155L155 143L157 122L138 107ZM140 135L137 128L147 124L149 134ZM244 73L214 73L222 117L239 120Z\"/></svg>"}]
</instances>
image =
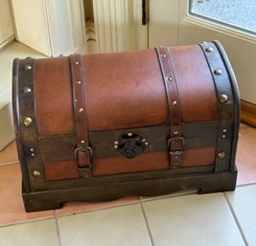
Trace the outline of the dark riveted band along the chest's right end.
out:
<instances>
[{"instance_id":1,"label":"dark riveted band along the chest's right end","mask_svg":"<svg viewBox=\"0 0 256 246\"><path fill-rule=\"evenodd\" d=\"M230 169L230 153L233 138L234 99L231 81L222 61L219 49L213 42L199 43L215 82L218 100L219 126L216 147L215 172Z\"/></svg>"}]
</instances>

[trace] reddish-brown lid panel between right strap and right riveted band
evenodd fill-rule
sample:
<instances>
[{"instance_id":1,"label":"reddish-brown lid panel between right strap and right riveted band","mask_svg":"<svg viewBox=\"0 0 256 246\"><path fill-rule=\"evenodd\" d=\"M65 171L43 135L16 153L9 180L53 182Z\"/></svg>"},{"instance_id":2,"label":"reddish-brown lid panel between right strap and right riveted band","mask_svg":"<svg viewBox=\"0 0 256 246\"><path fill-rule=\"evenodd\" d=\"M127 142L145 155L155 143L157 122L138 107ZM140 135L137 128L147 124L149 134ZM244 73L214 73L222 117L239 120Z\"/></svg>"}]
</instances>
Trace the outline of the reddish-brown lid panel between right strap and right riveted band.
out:
<instances>
[{"instance_id":1,"label":"reddish-brown lid panel between right strap and right riveted band","mask_svg":"<svg viewBox=\"0 0 256 246\"><path fill-rule=\"evenodd\" d=\"M218 120L214 80L198 45L170 48L182 108L182 122Z\"/></svg>"}]
</instances>

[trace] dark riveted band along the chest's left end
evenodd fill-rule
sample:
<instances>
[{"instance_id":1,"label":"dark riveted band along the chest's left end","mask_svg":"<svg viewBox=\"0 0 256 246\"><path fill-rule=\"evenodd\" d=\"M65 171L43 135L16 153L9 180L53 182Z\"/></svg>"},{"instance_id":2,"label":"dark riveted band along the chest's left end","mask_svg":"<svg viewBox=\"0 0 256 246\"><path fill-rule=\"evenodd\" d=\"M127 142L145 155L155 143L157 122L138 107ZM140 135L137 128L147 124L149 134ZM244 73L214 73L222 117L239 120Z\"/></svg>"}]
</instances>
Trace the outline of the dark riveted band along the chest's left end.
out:
<instances>
[{"instance_id":1,"label":"dark riveted band along the chest's left end","mask_svg":"<svg viewBox=\"0 0 256 246\"><path fill-rule=\"evenodd\" d=\"M16 142L23 172L23 181L29 178L30 189L39 190L44 183L44 169L40 152L35 118L34 94L35 60L19 60L15 97ZM14 83L13 83L14 85ZM14 90L14 91L15 91ZM18 108L18 109L17 109ZM24 184L23 184L24 186ZM26 185L24 186L26 189Z\"/></svg>"}]
</instances>

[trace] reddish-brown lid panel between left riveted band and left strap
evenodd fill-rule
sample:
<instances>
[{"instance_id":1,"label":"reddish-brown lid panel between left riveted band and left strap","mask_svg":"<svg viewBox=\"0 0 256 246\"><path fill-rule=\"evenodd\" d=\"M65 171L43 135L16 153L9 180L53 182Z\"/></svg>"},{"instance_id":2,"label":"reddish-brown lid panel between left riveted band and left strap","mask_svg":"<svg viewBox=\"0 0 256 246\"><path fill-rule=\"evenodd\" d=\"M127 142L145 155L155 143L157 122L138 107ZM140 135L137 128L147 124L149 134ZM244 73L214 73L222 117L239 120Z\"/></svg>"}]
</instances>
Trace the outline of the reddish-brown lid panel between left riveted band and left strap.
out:
<instances>
[{"instance_id":1,"label":"reddish-brown lid panel between left riveted band and left strap","mask_svg":"<svg viewBox=\"0 0 256 246\"><path fill-rule=\"evenodd\" d=\"M75 131L68 57L35 60L35 113L39 135Z\"/></svg>"}]
</instances>

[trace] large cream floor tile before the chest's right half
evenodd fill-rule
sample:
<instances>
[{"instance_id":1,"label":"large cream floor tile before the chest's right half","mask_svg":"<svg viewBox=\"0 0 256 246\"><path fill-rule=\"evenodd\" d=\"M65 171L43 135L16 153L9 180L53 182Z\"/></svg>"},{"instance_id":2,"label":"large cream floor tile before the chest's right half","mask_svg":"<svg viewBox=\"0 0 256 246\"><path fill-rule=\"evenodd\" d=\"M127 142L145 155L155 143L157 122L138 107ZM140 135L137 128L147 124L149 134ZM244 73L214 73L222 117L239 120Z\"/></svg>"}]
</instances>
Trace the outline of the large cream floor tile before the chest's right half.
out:
<instances>
[{"instance_id":1,"label":"large cream floor tile before the chest's right half","mask_svg":"<svg viewBox=\"0 0 256 246\"><path fill-rule=\"evenodd\" d=\"M238 246L244 241L223 193L144 202L157 246Z\"/></svg>"}]
</instances>

